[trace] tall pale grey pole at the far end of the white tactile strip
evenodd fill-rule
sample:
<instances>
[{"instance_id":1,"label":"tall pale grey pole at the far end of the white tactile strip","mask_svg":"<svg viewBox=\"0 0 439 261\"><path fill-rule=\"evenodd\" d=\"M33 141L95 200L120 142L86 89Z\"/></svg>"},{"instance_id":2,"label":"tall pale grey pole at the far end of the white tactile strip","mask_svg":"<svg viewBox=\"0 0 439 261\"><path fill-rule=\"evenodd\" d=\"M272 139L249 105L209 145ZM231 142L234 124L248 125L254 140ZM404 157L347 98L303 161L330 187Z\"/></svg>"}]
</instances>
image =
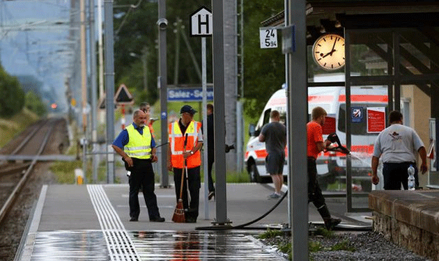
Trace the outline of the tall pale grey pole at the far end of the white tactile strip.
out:
<instances>
[{"instance_id":1,"label":"tall pale grey pole at the far end of the white tactile strip","mask_svg":"<svg viewBox=\"0 0 439 261\"><path fill-rule=\"evenodd\" d=\"M98 133L96 130L96 122L98 118L96 116L97 113L97 86L96 86L96 47L95 47L95 1L88 0L88 10L90 12L90 72L91 72L91 144L93 153L98 152L98 144L96 141L98 140ZM92 176L93 182L98 182L98 155L93 155L93 168L92 168Z\"/></svg>"}]
</instances>

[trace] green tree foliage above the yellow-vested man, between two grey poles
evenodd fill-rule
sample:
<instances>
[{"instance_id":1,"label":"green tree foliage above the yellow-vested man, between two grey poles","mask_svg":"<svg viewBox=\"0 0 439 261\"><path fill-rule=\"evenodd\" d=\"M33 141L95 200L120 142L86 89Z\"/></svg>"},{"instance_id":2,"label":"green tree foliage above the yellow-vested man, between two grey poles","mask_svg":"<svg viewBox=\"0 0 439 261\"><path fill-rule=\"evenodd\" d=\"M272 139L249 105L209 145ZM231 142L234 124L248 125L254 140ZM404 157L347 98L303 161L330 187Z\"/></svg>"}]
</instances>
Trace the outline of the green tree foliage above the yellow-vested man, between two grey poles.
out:
<instances>
[{"instance_id":1,"label":"green tree foliage above the yellow-vested man, between two grey poles","mask_svg":"<svg viewBox=\"0 0 439 261\"><path fill-rule=\"evenodd\" d=\"M137 103L154 103L157 100L157 3L140 1L134 9L130 9L131 5L132 1L128 0L117 0L114 5L114 81L116 89L125 84ZM142 50L147 51L147 100L140 100L138 96L145 92Z\"/></svg>"}]
</instances>

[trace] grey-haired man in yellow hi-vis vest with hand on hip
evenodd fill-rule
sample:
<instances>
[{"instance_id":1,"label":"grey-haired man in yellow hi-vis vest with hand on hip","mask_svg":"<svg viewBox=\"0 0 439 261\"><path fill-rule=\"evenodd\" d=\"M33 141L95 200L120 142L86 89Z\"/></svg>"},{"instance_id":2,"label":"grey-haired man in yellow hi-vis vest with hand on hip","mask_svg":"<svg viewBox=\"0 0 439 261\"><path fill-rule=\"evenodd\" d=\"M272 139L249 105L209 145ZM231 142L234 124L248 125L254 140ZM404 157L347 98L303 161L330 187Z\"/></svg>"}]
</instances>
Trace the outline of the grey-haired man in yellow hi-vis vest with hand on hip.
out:
<instances>
[{"instance_id":1,"label":"grey-haired man in yellow hi-vis vest with hand on hip","mask_svg":"<svg viewBox=\"0 0 439 261\"><path fill-rule=\"evenodd\" d=\"M149 220L164 222L157 207L154 193L155 180L152 162L157 161L155 141L148 127L145 127L146 113L134 111L132 124L128 125L114 140L112 147L121 155L125 168L130 173L130 221L138 221L140 214L139 189L144 193Z\"/></svg>"}]
</instances>

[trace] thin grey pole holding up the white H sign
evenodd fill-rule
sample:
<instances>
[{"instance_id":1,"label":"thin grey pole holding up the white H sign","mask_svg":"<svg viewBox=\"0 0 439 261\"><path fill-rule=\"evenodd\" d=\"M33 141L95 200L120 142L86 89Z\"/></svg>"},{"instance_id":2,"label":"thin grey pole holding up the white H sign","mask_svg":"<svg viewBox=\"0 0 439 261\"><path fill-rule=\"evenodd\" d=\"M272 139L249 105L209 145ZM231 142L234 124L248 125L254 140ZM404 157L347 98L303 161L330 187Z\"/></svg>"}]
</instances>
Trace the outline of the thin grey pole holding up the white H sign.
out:
<instances>
[{"instance_id":1,"label":"thin grey pole holding up the white H sign","mask_svg":"<svg viewBox=\"0 0 439 261\"><path fill-rule=\"evenodd\" d=\"M203 174L204 174L204 219L209 219L209 180L208 180L208 126L207 126L207 77L206 77L206 37L201 38L201 85L203 87Z\"/></svg>"}]
</instances>

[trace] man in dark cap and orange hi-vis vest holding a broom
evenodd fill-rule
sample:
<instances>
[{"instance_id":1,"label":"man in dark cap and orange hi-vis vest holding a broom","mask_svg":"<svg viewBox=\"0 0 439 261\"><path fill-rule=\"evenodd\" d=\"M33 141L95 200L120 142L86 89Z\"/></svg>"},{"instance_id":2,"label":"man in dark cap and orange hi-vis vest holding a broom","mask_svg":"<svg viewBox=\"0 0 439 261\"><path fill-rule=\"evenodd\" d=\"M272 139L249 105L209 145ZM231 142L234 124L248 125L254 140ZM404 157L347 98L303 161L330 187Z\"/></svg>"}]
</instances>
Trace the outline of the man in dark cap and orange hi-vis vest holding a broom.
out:
<instances>
[{"instance_id":1,"label":"man in dark cap and orange hi-vis vest holding a broom","mask_svg":"<svg viewBox=\"0 0 439 261\"><path fill-rule=\"evenodd\" d=\"M201 122L194 121L196 112L191 106L185 105L180 109L180 119L169 123L168 169L174 171L177 202L183 176L182 199L186 223L197 222L201 187L200 150L203 146L203 134ZM183 168L184 161L185 168ZM187 197L187 189L189 189L190 200Z\"/></svg>"}]
</instances>

